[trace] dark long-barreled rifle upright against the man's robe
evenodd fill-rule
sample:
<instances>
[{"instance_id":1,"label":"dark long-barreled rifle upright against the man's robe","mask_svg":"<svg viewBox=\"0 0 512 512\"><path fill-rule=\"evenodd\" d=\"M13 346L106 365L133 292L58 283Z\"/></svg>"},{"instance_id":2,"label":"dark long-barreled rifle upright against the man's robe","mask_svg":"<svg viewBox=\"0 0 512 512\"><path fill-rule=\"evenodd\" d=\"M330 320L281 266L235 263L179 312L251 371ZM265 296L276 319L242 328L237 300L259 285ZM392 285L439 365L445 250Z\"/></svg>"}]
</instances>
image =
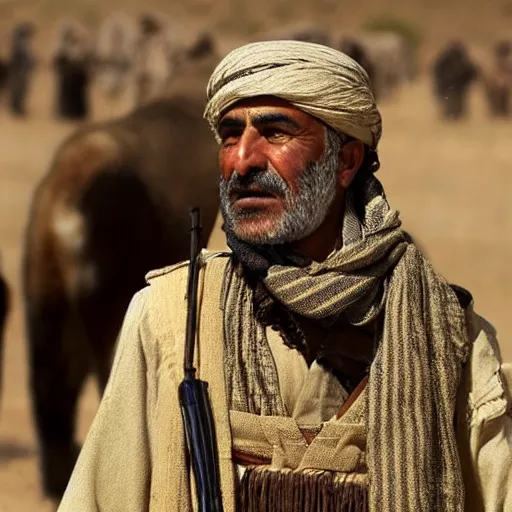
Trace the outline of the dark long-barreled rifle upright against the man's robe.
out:
<instances>
[{"instance_id":1,"label":"dark long-barreled rifle upright against the man's robe","mask_svg":"<svg viewBox=\"0 0 512 512\"><path fill-rule=\"evenodd\" d=\"M217 438L208 383L196 378L194 348L197 329L197 287L199 280L199 209L190 210L190 262L187 288L187 331L183 363L184 380L178 392L189 458L196 482L200 512L222 512Z\"/></svg>"}]
</instances>

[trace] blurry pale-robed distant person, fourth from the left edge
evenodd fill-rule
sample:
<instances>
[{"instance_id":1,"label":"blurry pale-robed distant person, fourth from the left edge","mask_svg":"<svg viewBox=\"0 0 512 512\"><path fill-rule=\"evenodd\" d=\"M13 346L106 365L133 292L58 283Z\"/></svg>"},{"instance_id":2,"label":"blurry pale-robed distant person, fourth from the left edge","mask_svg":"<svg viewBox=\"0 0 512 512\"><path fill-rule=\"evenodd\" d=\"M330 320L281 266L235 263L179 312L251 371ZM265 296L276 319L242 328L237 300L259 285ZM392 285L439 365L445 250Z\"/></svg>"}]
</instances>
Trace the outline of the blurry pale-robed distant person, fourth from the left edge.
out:
<instances>
[{"instance_id":1,"label":"blurry pale-robed distant person, fourth from the left edge","mask_svg":"<svg viewBox=\"0 0 512 512\"><path fill-rule=\"evenodd\" d=\"M142 105L157 99L170 79L170 47L165 27L156 15L140 17L134 61L135 103Z\"/></svg>"}]
</instances>

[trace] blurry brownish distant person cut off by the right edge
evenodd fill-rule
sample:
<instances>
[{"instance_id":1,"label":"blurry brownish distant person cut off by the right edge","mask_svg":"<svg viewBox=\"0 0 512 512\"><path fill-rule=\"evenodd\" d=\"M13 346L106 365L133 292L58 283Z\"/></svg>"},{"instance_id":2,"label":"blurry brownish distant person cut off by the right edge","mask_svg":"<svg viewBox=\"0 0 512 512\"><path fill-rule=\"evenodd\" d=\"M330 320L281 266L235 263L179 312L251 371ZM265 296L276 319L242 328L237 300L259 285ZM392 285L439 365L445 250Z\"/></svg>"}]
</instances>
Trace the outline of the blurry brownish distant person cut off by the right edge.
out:
<instances>
[{"instance_id":1,"label":"blurry brownish distant person cut off by the right edge","mask_svg":"<svg viewBox=\"0 0 512 512\"><path fill-rule=\"evenodd\" d=\"M494 47L493 66L485 77L485 92L489 113L507 117L511 112L512 90L512 41L499 41Z\"/></svg>"}]
</instances>

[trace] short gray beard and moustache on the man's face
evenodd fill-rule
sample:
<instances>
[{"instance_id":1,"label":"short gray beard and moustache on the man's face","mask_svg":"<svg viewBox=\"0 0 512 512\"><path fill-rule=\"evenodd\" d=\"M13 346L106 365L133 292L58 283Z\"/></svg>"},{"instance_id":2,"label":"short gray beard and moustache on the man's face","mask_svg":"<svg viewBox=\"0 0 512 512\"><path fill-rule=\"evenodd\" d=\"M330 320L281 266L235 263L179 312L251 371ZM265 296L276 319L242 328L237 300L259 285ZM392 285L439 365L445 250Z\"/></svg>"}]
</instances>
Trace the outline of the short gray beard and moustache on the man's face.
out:
<instances>
[{"instance_id":1,"label":"short gray beard and moustache on the man's face","mask_svg":"<svg viewBox=\"0 0 512 512\"><path fill-rule=\"evenodd\" d=\"M225 229L240 240L253 245L281 245L302 240L314 233L325 220L336 197L339 151L341 140L335 132L327 130L324 154L311 162L301 173L297 192L294 194L279 173L269 165L264 171L249 172L240 176L236 171L229 180L220 180L220 208ZM284 198L284 210L276 219L275 227L261 233L245 234L239 221L258 213L234 212L229 194L236 186L257 185Z\"/></svg>"}]
</instances>

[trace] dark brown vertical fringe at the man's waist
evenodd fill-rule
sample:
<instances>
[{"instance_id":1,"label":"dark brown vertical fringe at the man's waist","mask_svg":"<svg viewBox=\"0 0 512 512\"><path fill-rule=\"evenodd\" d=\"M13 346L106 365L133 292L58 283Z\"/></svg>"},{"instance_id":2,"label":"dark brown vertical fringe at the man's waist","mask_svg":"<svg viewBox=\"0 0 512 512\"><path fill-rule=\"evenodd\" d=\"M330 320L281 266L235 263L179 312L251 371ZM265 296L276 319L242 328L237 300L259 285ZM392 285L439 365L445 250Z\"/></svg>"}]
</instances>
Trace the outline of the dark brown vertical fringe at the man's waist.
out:
<instances>
[{"instance_id":1,"label":"dark brown vertical fringe at the man's waist","mask_svg":"<svg viewBox=\"0 0 512 512\"><path fill-rule=\"evenodd\" d=\"M244 512L368 512L368 488L353 475L249 466L240 482Z\"/></svg>"}]
</instances>

